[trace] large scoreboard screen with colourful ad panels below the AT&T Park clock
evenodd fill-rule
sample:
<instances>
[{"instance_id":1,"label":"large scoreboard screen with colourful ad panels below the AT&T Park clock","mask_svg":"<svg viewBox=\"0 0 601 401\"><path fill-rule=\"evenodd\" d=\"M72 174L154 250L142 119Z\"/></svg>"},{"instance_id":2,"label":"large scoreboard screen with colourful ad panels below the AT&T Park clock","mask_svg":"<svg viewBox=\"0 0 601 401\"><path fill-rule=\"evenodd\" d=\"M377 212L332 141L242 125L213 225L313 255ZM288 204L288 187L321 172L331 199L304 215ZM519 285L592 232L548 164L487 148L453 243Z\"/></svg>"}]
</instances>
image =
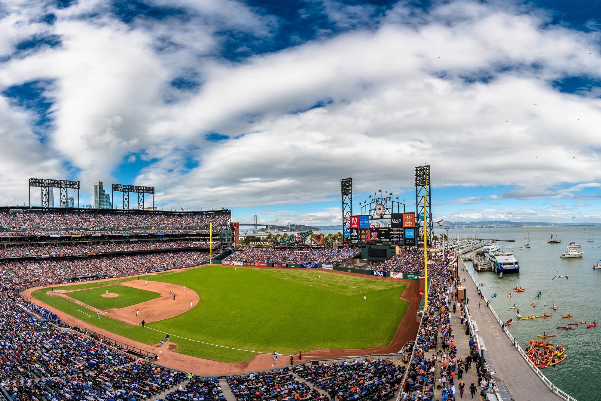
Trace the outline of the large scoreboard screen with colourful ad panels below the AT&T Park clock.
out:
<instances>
[{"instance_id":1,"label":"large scoreboard screen with colourful ad panels below the AT&T Park clock","mask_svg":"<svg viewBox=\"0 0 601 401\"><path fill-rule=\"evenodd\" d=\"M415 246L414 231L415 213L393 213L391 217L350 217L350 243L354 245Z\"/></svg>"}]
</instances>

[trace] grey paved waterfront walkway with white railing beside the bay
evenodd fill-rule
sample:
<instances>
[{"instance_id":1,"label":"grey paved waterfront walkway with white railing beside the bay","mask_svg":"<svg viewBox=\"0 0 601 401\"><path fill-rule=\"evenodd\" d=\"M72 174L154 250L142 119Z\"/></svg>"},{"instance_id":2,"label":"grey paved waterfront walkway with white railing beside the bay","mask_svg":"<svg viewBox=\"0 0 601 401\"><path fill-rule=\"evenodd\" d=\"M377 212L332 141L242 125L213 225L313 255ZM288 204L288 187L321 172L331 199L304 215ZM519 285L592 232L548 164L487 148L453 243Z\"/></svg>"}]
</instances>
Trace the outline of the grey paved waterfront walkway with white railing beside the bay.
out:
<instances>
[{"instance_id":1,"label":"grey paved waterfront walkway with white railing beside the bay","mask_svg":"<svg viewBox=\"0 0 601 401\"><path fill-rule=\"evenodd\" d=\"M551 391L542 379L528 365L522 355L513 346L507 335L501 331L493 312L486 307L486 301L477 293L477 287L468 272L462 272L463 263L459 263L459 276L465 277L468 308L472 320L478 326L478 335L484 341L484 348L495 367L494 376L502 379L516 401L560 401L560 396ZM481 308L478 309L478 302ZM457 322L459 323L459 322ZM511 326L509 326L511 328ZM457 329L454 329L456 331ZM529 338L517 339L522 345Z\"/></svg>"}]
</instances>

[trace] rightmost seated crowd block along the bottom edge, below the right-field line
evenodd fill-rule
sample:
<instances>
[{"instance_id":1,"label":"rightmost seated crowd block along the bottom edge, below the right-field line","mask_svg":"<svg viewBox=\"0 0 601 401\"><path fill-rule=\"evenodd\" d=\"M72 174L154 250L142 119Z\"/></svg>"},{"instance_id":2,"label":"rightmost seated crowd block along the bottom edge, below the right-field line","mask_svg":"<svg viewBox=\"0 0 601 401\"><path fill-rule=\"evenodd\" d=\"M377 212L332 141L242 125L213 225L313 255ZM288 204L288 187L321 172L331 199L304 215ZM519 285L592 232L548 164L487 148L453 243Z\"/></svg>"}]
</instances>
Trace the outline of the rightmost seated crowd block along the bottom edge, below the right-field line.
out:
<instances>
[{"instance_id":1,"label":"rightmost seated crowd block along the bottom edge, below the right-field line","mask_svg":"<svg viewBox=\"0 0 601 401\"><path fill-rule=\"evenodd\" d=\"M403 377L404 366L392 364L391 359L365 359L362 362L355 359L350 363L303 365L293 368L293 371L327 391L332 400L381 401L394 396Z\"/></svg>"}]
</instances>

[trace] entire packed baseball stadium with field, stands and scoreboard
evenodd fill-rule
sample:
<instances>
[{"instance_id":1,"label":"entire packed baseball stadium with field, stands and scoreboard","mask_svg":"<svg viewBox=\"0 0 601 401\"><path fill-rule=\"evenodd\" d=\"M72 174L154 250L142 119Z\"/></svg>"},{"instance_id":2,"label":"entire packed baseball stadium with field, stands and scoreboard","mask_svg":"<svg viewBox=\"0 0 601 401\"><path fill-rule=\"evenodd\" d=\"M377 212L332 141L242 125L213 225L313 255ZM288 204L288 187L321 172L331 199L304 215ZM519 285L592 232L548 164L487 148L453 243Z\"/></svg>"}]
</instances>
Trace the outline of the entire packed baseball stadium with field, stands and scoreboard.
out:
<instances>
[{"instance_id":1,"label":"entire packed baseball stadium with field, stands and scoreboard","mask_svg":"<svg viewBox=\"0 0 601 401\"><path fill-rule=\"evenodd\" d=\"M436 347L430 329L418 335L424 256L433 298L453 268L423 237L403 243L416 237L415 217L382 198L361 216L343 214L341 243L305 231L252 246L227 209L0 207L2 394L242 401L432 392L429 361L415 355L416 341ZM365 219L376 234L362 232Z\"/></svg>"}]
</instances>

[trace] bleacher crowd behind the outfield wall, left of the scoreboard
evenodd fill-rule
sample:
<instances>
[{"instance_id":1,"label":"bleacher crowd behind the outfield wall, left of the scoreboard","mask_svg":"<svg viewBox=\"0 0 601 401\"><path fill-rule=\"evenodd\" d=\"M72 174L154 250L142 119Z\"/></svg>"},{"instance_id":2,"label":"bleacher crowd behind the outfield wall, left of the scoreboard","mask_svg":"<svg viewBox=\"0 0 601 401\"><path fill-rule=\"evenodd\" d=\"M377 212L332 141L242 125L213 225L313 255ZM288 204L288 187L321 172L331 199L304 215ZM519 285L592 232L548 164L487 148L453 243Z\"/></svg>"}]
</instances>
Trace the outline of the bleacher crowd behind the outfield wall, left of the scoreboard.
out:
<instances>
[{"instance_id":1,"label":"bleacher crowd behind the outfield wall, left of the scoreboard","mask_svg":"<svg viewBox=\"0 0 601 401\"><path fill-rule=\"evenodd\" d=\"M325 263L336 264L359 253L357 249L332 248L252 248L236 250L225 261L272 263Z\"/></svg>"}]
</instances>

